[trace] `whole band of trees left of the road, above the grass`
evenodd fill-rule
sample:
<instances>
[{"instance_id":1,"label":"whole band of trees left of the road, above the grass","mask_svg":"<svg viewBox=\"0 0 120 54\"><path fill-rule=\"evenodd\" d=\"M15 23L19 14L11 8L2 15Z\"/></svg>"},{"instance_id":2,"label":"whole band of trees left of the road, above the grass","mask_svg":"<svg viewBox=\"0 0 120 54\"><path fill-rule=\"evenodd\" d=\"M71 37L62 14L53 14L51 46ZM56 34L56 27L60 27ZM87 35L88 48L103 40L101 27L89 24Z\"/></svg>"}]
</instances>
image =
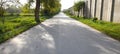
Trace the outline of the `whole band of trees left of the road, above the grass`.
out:
<instances>
[{"instance_id":1,"label":"whole band of trees left of the road, above the grass","mask_svg":"<svg viewBox=\"0 0 120 54\"><path fill-rule=\"evenodd\" d=\"M31 5L34 3L36 6L31 9ZM31 13L34 10L36 23L40 23L39 15L41 12L42 15L54 15L58 13L60 9L60 0L27 0L25 5L21 5L19 0L0 0L0 16L3 16L5 12L13 15L13 13L20 12Z\"/></svg>"}]
</instances>

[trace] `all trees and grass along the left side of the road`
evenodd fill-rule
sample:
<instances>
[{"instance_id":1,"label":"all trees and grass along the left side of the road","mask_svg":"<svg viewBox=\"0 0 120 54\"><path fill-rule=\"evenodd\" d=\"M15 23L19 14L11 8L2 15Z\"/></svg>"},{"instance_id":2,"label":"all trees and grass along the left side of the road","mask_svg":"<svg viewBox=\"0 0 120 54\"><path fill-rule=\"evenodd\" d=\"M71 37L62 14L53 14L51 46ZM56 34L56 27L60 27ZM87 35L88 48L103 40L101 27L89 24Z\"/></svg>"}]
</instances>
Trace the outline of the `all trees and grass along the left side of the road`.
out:
<instances>
[{"instance_id":1,"label":"all trees and grass along the left side of the road","mask_svg":"<svg viewBox=\"0 0 120 54\"><path fill-rule=\"evenodd\" d=\"M27 0L25 4L20 0L0 0L0 43L51 18L60 9L60 0Z\"/></svg>"}]
</instances>

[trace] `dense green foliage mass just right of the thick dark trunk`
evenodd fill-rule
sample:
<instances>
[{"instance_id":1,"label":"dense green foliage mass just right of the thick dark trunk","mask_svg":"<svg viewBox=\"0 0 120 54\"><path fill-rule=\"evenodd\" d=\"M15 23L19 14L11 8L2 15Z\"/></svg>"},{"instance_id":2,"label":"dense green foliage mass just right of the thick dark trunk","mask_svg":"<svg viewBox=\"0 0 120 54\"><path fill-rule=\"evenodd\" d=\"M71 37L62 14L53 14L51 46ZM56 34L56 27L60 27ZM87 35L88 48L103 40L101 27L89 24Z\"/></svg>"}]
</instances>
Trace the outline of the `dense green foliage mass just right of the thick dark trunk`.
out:
<instances>
[{"instance_id":1,"label":"dense green foliage mass just right of the thick dark trunk","mask_svg":"<svg viewBox=\"0 0 120 54\"><path fill-rule=\"evenodd\" d=\"M43 15L54 15L60 12L61 4L59 0L42 0L44 9L42 10Z\"/></svg>"}]
</instances>

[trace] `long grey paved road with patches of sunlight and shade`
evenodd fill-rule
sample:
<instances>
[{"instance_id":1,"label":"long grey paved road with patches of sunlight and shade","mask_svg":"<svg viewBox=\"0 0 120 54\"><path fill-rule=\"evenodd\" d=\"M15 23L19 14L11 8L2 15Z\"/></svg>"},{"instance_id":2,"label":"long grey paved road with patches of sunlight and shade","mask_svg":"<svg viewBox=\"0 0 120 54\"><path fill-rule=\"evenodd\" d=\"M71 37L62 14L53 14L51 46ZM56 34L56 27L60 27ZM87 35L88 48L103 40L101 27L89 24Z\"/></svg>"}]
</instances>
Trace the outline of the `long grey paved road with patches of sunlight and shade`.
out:
<instances>
[{"instance_id":1,"label":"long grey paved road with patches of sunlight and shade","mask_svg":"<svg viewBox=\"0 0 120 54\"><path fill-rule=\"evenodd\" d=\"M120 42L60 13L0 45L0 54L120 54Z\"/></svg>"}]
</instances>

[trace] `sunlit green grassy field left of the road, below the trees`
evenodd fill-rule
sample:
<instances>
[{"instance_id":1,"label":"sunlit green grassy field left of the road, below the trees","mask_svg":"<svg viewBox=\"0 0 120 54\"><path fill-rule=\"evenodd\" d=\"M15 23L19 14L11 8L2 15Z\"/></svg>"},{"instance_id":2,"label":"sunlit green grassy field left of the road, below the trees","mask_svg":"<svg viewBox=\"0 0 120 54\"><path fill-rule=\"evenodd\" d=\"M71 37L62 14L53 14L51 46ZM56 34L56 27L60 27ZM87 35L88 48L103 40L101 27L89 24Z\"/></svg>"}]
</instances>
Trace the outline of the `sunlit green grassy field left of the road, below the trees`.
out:
<instances>
[{"instance_id":1,"label":"sunlit green grassy field left of the road, below the trees","mask_svg":"<svg viewBox=\"0 0 120 54\"><path fill-rule=\"evenodd\" d=\"M3 24L0 17L0 43L37 25L34 21L34 16L6 16L4 18L5 23ZM41 17L41 21L44 20L46 18Z\"/></svg>"}]
</instances>

